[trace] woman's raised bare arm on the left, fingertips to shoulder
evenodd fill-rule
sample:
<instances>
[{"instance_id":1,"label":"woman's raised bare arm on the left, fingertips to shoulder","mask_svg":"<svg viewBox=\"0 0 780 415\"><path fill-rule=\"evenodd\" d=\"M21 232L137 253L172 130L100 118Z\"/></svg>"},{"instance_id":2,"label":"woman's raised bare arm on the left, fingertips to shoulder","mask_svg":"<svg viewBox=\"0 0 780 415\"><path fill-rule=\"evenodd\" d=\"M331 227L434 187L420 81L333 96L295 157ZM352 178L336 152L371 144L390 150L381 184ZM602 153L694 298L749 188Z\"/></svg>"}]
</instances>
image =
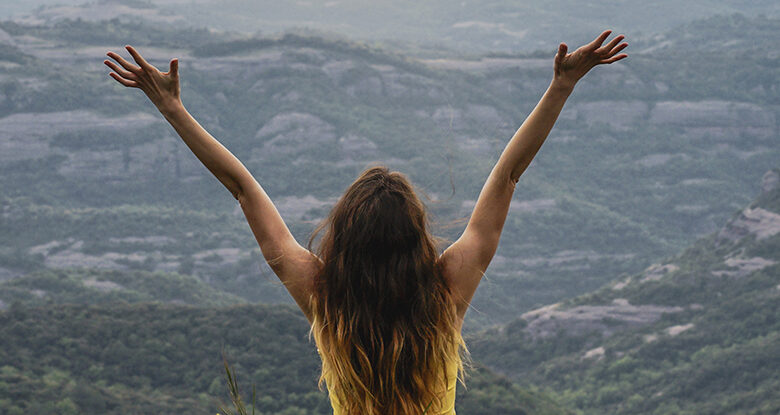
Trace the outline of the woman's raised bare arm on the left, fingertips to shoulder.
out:
<instances>
[{"instance_id":1,"label":"woman's raised bare arm on the left, fingertips to shoulder","mask_svg":"<svg viewBox=\"0 0 780 415\"><path fill-rule=\"evenodd\" d=\"M209 171L241 204L249 226L268 264L307 317L310 281L318 260L293 237L271 198L247 168L184 108L180 97L179 61L168 72L150 65L131 46L132 64L114 52L105 60L110 75L126 87L141 89ZM118 63L118 64L117 64Z\"/></svg>"}]
</instances>

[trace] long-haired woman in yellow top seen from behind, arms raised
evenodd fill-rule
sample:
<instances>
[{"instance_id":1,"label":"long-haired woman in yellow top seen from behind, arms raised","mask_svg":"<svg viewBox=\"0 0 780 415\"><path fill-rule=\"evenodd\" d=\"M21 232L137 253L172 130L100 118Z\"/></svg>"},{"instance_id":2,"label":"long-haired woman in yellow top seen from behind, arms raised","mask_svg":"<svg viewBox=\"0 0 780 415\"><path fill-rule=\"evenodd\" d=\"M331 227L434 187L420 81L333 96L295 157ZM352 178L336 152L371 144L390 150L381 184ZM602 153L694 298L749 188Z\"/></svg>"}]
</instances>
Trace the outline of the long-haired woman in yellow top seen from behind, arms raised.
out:
<instances>
[{"instance_id":1,"label":"long-haired woman in yellow top seen from behind, arms raised","mask_svg":"<svg viewBox=\"0 0 780 415\"><path fill-rule=\"evenodd\" d=\"M463 234L441 255L412 185L384 167L364 171L336 203L315 232L324 231L316 254L302 247L249 171L184 108L177 59L162 73L127 46L135 64L114 52L116 62L105 64L119 83L147 95L239 201L263 256L311 323L334 413L454 414L468 356L463 318L496 252L515 184L577 81L627 56L618 54L628 46L622 35L604 44L610 33L572 53L560 44L550 86L488 176Z\"/></svg>"}]
</instances>

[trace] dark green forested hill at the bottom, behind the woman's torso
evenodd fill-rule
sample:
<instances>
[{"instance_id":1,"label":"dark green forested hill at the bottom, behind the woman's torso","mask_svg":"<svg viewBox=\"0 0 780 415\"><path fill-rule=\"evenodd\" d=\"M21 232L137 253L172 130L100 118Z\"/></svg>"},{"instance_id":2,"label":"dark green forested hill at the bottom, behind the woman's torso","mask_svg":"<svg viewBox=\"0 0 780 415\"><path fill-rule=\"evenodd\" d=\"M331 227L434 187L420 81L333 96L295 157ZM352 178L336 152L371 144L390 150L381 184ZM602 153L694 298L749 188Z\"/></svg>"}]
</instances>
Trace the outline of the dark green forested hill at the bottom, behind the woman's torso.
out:
<instances>
[{"instance_id":1,"label":"dark green forested hill at the bottom, behind the woman's torso","mask_svg":"<svg viewBox=\"0 0 780 415\"><path fill-rule=\"evenodd\" d=\"M141 303L0 312L0 414L213 414L227 400L222 350L256 385L259 414L332 413L298 309ZM467 385L459 413L570 413L484 368Z\"/></svg>"}]
</instances>

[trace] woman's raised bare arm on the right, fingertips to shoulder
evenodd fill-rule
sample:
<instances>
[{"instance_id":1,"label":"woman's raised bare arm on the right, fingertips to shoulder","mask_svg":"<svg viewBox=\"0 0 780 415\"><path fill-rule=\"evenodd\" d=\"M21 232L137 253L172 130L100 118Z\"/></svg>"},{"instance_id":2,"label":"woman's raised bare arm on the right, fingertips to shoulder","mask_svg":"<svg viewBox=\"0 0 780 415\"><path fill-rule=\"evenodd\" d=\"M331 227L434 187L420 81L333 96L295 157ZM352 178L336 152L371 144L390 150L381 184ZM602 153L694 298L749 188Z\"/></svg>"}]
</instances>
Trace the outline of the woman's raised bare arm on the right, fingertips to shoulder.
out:
<instances>
[{"instance_id":1,"label":"woman's raised bare arm on the right, fingertips to shoulder","mask_svg":"<svg viewBox=\"0 0 780 415\"><path fill-rule=\"evenodd\" d=\"M461 297L463 313L498 248L515 184L550 133L574 85L594 66L628 56L617 54L628 46L627 43L618 44L623 35L603 44L610 33L605 31L593 42L569 54L566 44L560 44L547 92L501 153L463 234L442 253L440 261L456 295Z\"/></svg>"}]
</instances>

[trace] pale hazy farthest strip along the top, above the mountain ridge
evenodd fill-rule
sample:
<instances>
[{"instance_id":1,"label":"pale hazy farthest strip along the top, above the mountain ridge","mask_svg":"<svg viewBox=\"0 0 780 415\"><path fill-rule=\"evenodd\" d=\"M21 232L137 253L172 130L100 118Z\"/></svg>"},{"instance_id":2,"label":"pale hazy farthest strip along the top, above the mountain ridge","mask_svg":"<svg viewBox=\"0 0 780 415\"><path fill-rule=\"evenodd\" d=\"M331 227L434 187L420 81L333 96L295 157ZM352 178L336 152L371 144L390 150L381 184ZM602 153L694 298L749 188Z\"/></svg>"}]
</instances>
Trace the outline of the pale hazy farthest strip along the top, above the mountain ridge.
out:
<instances>
[{"instance_id":1,"label":"pale hazy farthest strip along the top, above the mountain ridge","mask_svg":"<svg viewBox=\"0 0 780 415\"><path fill-rule=\"evenodd\" d=\"M604 29L637 40L714 14L780 15L780 2L764 0L0 0L0 19L41 5L84 3L111 6L58 8L44 15L102 20L130 10L168 21L176 15L181 22L219 30L270 34L314 28L352 39L400 40L465 52L547 50L561 41L588 41ZM144 4L154 7L132 9Z\"/></svg>"}]
</instances>

